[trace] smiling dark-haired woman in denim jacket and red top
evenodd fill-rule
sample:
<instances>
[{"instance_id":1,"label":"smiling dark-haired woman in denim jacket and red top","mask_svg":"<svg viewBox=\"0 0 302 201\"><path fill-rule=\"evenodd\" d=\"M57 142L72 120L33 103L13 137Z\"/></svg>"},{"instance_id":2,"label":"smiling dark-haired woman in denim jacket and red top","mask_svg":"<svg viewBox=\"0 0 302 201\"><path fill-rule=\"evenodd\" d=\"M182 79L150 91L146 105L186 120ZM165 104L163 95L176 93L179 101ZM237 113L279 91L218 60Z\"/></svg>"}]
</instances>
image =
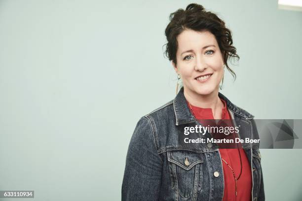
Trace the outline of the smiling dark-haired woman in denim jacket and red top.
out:
<instances>
[{"instance_id":1,"label":"smiling dark-haired woman in denim jacket and red top","mask_svg":"<svg viewBox=\"0 0 302 201\"><path fill-rule=\"evenodd\" d=\"M132 135L123 201L264 201L261 157L241 143L186 146L179 131L197 119L232 120L239 137L258 139L254 116L219 92L229 57L239 58L224 21L201 5L170 15L166 55L182 80L176 98L142 117ZM208 135L204 135L206 137Z\"/></svg>"}]
</instances>

